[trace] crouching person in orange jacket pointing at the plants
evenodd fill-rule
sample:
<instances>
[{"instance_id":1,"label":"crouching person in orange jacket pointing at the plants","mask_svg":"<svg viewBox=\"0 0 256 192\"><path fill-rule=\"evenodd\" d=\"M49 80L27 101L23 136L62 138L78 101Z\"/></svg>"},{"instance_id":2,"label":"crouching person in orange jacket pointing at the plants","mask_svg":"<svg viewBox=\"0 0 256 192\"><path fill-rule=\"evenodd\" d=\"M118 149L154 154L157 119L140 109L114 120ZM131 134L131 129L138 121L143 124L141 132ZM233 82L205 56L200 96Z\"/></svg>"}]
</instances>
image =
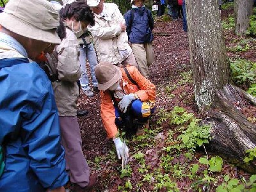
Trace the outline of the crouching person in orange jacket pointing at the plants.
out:
<instances>
[{"instance_id":1,"label":"crouching person in orange jacket pointing at the plants","mask_svg":"<svg viewBox=\"0 0 256 192\"><path fill-rule=\"evenodd\" d=\"M95 75L100 90L102 122L121 159L128 156L128 148L124 150L116 125L125 124L129 129L126 131L137 129L136 134L143 134L140 125L148 122L148 117L154 113L156 86L132 65L122 68L105 61L95 67Z\"/></svg>"}]
</instances>

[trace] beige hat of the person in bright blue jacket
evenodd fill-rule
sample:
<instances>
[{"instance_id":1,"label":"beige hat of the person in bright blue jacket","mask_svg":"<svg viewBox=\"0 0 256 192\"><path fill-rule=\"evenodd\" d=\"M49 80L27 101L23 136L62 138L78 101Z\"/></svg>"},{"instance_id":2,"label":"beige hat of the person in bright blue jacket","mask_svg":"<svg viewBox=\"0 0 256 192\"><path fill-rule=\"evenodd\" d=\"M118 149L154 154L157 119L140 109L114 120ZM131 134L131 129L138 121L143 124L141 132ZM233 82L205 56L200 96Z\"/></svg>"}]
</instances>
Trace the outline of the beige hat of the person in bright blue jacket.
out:
<instances>
[{"instance_id":1,"label":"beige hat of the person in bright blue jacket","mask_svg":"<svg viewBox=\"0 0 256 192\"><path fill-rule=\"evenodd\" d=\"M0 25L27 38L60 44L56 33L60 17L46 0L10 0L0 13Z\"/></svg>"}]
</instances>

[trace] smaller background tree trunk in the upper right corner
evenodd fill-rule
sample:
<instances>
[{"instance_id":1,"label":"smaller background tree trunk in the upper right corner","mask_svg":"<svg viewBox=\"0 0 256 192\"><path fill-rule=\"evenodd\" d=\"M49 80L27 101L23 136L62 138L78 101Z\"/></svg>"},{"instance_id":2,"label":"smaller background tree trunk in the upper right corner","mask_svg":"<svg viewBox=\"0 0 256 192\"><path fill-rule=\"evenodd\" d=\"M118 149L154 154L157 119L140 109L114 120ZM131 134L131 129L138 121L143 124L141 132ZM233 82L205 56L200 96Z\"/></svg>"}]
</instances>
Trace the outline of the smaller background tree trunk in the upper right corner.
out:
<instances>
[{"instance_id":1,"label":"smaller background tree trunk in the upper right corner","mask_svg":"<svg viewBox=\"0 0 256 192\"><path fill-rule=\"evenodd\" d=\"M253 0L234 1L236 35L244 35L249 27L250 16L253 13Z\"/></svg>"}]
</instances>

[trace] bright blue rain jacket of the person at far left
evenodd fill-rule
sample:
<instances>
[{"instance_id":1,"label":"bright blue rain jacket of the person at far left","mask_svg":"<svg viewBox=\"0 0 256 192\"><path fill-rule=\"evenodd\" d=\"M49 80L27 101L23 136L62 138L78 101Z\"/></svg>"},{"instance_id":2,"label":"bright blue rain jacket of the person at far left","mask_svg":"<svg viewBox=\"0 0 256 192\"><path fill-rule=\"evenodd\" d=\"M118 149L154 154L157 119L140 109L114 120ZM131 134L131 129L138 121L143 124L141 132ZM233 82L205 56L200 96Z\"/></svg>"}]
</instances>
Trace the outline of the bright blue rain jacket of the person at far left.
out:
<instances>
[{"instance_id":1,"label":"bright blue rain jacket of the person at far left","mask_svg":"<svg viewBox=\"0 0 256 192\"><path fill-rule=\"evenodd\" d=\"M68 181L51 81L26 58L0 60L0 191L40 192Z\"/></svg>"}]
</instances>

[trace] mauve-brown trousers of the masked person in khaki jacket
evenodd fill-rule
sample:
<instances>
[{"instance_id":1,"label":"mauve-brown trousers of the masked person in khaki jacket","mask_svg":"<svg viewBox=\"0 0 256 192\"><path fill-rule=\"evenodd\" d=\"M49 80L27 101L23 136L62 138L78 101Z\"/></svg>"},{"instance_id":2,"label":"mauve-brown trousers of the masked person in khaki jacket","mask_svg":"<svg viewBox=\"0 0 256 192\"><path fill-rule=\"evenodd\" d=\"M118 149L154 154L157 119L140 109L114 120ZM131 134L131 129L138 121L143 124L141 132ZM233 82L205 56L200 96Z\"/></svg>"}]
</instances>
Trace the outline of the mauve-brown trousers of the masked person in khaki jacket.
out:
<instances>
[{"instance_id":1,"label":"mauve-brown trousers of the masked person in khaki jacket","mask_svg":"<svg viewBox=\"0 0 256 192\"><path fill-rule=\"evenodd\" d=\"M65 148L66 170L70 181L88 186L90 169L84 158L77 116L60 116L61 144Z\"/></svg>"}]
</instances>

